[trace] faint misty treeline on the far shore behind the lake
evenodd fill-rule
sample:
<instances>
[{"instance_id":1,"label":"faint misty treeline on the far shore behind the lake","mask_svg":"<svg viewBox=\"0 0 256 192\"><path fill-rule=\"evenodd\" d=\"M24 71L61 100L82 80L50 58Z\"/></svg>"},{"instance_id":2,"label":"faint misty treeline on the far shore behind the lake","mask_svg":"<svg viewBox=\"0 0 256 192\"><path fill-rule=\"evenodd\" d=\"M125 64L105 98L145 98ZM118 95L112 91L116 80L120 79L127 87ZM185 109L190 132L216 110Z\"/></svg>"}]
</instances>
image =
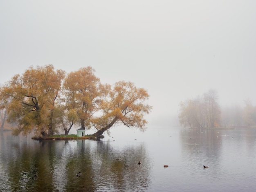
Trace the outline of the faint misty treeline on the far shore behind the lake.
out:
<instances>
[{"instance_id":1,"label":"faint misty treeline on the far shore behind the lake","mask_svg":"<svg viewBox=\"0 0 256 192\"><path fill-rule=\"evenodd\" d=\"M249 100L245 107L221 108L216 90L180 103L180 125L190 128L252 127L256 126L256 106Z\"/></svg>"}]
</instances>

